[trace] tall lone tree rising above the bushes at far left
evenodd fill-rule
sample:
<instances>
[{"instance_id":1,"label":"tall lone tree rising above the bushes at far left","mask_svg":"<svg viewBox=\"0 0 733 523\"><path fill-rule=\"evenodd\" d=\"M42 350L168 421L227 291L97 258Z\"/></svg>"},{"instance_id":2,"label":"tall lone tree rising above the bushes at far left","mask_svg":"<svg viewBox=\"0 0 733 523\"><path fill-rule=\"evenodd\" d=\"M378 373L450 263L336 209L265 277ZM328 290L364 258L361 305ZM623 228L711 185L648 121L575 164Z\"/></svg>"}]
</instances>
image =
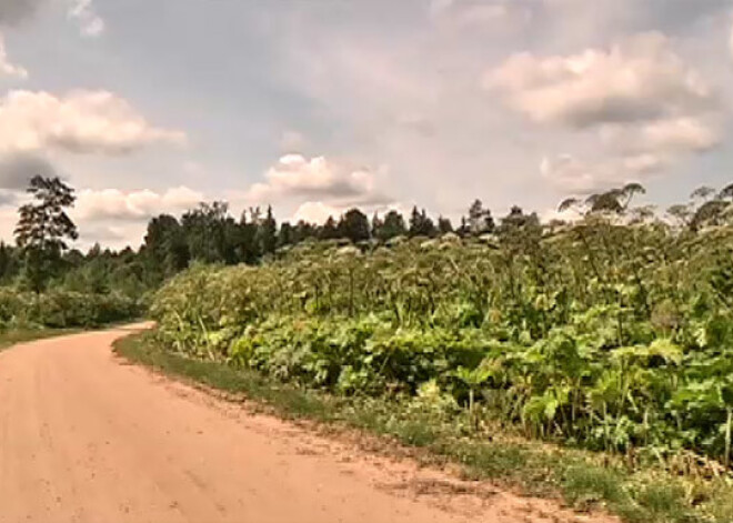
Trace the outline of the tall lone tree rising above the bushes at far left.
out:
<instances>
[{"instance_id":1,"label":"tall lone tree rising above the bushes at far left","mask_svg":"<svg viewBox=\"0 0 733 523\"><path fill-rule=\"evenodd\" d=\"M16 225L16 242L24 260L23 276L36 292L58 271L66 240L79 238L66 209L73 207L74 190L59 178L33 177L28 192L33 201L22 205Z\"/></svg>"}]
</instances>

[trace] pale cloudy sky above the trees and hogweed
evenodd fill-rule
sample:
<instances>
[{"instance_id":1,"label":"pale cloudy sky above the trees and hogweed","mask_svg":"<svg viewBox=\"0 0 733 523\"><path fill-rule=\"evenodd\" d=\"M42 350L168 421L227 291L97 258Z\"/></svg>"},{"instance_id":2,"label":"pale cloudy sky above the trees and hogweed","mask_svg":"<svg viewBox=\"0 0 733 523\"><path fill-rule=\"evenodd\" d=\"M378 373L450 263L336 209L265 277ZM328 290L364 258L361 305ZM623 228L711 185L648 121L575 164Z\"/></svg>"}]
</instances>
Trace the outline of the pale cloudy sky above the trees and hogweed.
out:
<instances>
[{"instance_id":1,"label":"pale cloudy sky above the trees and hogweed","mask_svg":"<svg viewBox=\"0 0 733 523\"><path fill-rule=\"evenodd\" d=\"M34 174L79 247L201 201L501 217L733 182L733 0L0 0L0 239Z\"/></svg>"}]
</instances>

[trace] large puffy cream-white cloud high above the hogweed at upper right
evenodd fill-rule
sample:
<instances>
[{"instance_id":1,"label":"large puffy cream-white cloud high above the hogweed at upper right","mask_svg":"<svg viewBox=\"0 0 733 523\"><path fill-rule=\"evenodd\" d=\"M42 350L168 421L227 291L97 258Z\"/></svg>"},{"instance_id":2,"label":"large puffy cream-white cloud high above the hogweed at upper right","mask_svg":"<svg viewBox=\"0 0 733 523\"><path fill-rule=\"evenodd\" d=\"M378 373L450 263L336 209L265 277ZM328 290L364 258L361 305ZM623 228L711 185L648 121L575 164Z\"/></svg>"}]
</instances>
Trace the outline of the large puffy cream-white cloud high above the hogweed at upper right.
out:
<instances>
[{"instance_id":1,"label":"large puffy cream-white cloud high above the hogweed at upper right","mask_svg":"<svg viewBox=\"0 0 733 523\"><path fill-rule=\"evenodd\" d=\"M536 122L571 128L670 118L714 101L659 32L573 56L514 54L486 76L485 86L504 91L512 108Z\"/></svg>"}]
</instances>

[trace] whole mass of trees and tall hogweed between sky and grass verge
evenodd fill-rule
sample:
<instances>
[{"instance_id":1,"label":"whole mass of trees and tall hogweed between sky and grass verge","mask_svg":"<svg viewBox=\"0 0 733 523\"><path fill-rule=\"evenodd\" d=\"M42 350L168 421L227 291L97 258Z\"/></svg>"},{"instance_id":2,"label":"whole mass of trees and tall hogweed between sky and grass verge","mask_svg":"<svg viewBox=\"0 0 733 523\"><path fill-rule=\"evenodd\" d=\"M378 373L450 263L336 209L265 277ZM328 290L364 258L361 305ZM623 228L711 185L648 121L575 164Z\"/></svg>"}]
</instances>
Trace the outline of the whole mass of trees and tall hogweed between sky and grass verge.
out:
<instances>
[{"instance_id":1,"label":"whole mass of trees and tall hogweed between sky and grass verge","mask_svg":"<svg viewBox=\"0 0 733 523\"><path fill-rule=\"evenodd\" d=\"M519 208L494 223L476 201L455 230L416 208L278 227L270 208L237 221L202 203L153 218L138 251L87 254L66 243L73 190L36 178L29 192L18 247L0 245L3 326L124 320L152 295L160 335L188 354L343 395L438 391L476 426L730 464L731 188L665 220L631 208L637 184L564 201L582 217L569 223Z\"/></svg>"}]
</instances>

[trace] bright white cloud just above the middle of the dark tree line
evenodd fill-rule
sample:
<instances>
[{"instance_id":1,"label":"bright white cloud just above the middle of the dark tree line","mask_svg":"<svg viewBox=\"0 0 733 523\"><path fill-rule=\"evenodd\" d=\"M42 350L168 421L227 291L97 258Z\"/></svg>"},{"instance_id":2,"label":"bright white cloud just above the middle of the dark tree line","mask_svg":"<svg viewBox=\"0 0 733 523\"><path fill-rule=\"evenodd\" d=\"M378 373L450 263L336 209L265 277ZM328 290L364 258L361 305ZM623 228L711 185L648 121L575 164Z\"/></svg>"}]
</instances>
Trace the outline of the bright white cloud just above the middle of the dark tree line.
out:
<instances>
[{"instance_id":1,"label":"bright white cloud just above the middle of the dark tree line","mask_svg":"<svg viewBox=\"0 0 733 523\"><path fill-rule=\"evenodd\" d=\"M376 190L378 173L323 157L308 159L301 154L287 154L267 171L264 178L265 182L250 188L247 200L267 203L318 198L347 205L384 202L384 197Z\"/></svg>"}]
</instances>

